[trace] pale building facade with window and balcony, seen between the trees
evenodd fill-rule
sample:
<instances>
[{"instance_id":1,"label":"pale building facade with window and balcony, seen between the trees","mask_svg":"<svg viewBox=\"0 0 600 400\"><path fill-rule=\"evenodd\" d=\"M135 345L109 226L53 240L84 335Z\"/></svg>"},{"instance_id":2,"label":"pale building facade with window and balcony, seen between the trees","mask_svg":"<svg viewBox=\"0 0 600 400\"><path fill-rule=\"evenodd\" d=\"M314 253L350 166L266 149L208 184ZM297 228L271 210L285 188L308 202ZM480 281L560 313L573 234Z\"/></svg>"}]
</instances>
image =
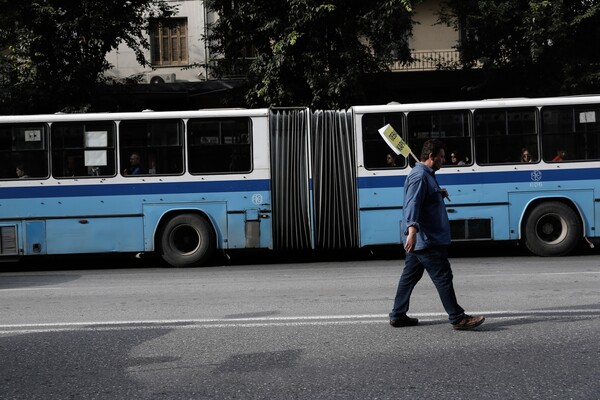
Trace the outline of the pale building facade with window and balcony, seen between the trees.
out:
<instances>
[{"instance_id":1,"label":"pale building facade with window and balcony, seen between the trees","mask_svg":"<svg viewBox=\"0 0 600 400\"><path fill-rule=\"evenodd\" d=\"M113 68L106 75L118 82L136 79L147 84L133 89L135 94L145 99L142 106L163 108L162 105L148 103L148 100L182 96L185 101L191 101L192 108L216 106L208 97L229 90L235 86L236 78L239 80L239 76L224 77L225 81L216 79L206 68L211 54L204 37L208 24L217 16L206 10L202 0L179 0L176 3L179 12L169 25L154 24L149 32L150 49L146 58L151 65L140 65L134 52L123 44L108 54L107 59ZM454 46L458 43L459 34L453 28L436 23L439 6L440 0L424 0L415 6L416 24L410 42L415 61L410 65L391 65L391 74L377 78L385 80L382 86L390 92L373 92L373 98L367 102L431 101L437 99L438 90L445 97L457 96L456 91L464 86L461 83L464 79L462 75L458 78L448 76L452 71L444 67L458 62ZM227 82L227 79L233 83ZM451 90L446 87L447 82L454 85ZM440 100L447 100L445 97ZM167 101L173 107L185 107L181 103Z\"/></svg>"}]
</instances>

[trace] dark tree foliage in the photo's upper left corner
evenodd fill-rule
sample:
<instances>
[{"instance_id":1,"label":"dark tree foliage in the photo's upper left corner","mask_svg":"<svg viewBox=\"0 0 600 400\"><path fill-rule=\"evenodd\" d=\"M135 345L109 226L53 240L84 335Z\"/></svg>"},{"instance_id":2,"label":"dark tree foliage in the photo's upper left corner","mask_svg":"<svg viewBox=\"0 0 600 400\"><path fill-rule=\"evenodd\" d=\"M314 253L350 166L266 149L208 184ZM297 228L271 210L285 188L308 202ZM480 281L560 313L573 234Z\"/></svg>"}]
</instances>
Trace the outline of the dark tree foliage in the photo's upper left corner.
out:
<instances>
[{"instance_id":1,"label":"dark tree foliage in the photo's upper left corner","mask_svg":"<svg viewBox=\"0 0 600 400\"><path fill-rule=\"evenodd\" d=\"M147 64L150 18L164 0L0 0L0 107L4 112L81 109L94 95L106 55L125 42Z\"/></svg>"}]
</instances>

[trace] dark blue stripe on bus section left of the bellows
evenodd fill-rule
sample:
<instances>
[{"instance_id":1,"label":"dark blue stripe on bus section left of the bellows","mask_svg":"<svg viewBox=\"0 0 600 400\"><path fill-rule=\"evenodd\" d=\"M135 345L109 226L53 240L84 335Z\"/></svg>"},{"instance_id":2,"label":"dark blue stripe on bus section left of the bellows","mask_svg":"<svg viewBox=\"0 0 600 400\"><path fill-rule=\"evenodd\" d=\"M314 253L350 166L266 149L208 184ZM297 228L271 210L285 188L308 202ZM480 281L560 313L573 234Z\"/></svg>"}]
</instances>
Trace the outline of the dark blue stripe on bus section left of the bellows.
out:
<instances>
[{"instance_id":1,"label":"dark blue stripe on bus section left of the bellows","mask_svg":"<svg viewBox=\"0 0 600 400\"><path fill-rule=\"evenodd\" d=\"M0 199L120 196L174 193L249 192L269 190L268 179L213 182L157 182L102 185L56 185L0 188Z\"/></svg>"}]
</instances>

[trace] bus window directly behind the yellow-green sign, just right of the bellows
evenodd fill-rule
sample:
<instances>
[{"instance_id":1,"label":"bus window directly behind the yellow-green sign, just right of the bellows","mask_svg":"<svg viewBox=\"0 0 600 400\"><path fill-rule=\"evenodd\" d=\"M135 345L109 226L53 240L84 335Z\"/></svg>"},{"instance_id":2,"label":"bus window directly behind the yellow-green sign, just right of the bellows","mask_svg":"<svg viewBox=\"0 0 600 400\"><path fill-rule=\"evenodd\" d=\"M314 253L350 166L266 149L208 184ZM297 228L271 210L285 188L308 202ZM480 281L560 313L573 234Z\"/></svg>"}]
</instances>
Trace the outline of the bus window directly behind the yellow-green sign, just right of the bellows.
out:
<instances>
[{"instance_id":1,"label":"bus window directly behind the yellow-green sign, just right of the bellows","mask_svg":"<svg viewBox=\"0 0 600 400\"><path fill-rule=\"evenodd\" d=\"M400 135L403 131L404 113L366 114L362 117L363 157L366 169L404 168L406 159L394 153L381 138L379 129L390 124ZM387 157L395 156L395 165L387 163Z\"/></svg>"}]
</instances>

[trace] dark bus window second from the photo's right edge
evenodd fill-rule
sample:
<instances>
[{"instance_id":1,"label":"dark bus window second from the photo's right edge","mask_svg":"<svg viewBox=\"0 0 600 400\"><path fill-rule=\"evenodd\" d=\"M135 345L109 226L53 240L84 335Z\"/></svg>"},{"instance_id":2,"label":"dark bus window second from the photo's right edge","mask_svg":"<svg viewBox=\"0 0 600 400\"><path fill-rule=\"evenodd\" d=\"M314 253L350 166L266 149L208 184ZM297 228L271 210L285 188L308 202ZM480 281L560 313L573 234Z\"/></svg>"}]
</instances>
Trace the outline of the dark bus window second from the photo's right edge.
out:
<instances>
[{"instance_id":1,"label":"dark bus window second from the photo's right edge","mask_svg":"<svg viewBox=\"0 0 600 400\"><path fill-rule=\"evenodd\" d=\"M478 164L520 163L523 148L537 154L536 108L475 110L474 121Z\"/></svg>"}]
</instances>

